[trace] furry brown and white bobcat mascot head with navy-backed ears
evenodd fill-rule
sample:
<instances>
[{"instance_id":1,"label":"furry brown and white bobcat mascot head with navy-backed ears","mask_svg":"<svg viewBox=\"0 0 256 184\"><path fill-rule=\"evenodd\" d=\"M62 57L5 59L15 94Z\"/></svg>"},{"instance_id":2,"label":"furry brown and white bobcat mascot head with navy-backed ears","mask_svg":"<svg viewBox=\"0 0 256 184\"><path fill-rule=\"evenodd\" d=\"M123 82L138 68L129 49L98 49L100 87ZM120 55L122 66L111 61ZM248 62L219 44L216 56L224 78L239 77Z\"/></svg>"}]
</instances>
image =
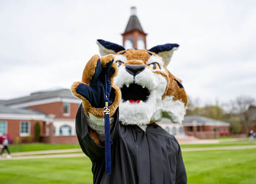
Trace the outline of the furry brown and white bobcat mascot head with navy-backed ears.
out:
<instances>
[{"instance_id":1,"label":"furry brown and white bobcat mascot head with navy-backed ears","mask_svg":"<svg viewBox=\"0 0 256 184\"><path fill-rule=\"evenodd\" d=\"M97 40L102 56L114 54L119 71L114 84L121 90L120 120L145 125L166 117L181 123L187 95L181 80L166 68L178 44L157 45L149 50L128 49Z\"/></svg>"}]
</instances>

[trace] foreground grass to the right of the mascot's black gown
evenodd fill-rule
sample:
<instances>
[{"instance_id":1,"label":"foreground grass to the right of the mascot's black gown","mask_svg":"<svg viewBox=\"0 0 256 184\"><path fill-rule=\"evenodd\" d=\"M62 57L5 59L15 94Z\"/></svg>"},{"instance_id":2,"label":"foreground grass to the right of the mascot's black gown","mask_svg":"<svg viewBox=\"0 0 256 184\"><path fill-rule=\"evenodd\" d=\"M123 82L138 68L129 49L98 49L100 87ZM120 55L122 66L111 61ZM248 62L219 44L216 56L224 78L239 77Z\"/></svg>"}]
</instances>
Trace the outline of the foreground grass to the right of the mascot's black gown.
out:
<instances>
[{"instance_id":1,"label":"foreground grass to the right of the mascot's black gown","mask_svg":"<svg viewBox=\"0 0 256 184\"><path fill-rule=\"evenodd\" d=\"M188 184L252 184L256 149L184 152Z\"/></svg>"}]
</instances>

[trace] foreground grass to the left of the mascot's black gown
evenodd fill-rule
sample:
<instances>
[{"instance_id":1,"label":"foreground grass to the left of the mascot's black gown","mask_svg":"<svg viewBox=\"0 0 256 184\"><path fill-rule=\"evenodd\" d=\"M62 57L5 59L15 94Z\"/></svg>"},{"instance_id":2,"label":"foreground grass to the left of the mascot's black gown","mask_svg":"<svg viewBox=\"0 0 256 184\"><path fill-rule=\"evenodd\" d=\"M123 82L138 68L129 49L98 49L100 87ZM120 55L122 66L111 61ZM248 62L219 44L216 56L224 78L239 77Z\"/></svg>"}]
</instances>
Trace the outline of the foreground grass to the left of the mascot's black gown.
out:
<instances>
[{"instance_id":1,"label":"foreground grass to the left of the mascot's black gown","mask_svg":"<svg viewBox=\"0 0 256 184\"><path fill-rule=\"evenodd\" d=\"M0 161L4 184L92 184L87 157Z\"/></svg>"}]
</instances>

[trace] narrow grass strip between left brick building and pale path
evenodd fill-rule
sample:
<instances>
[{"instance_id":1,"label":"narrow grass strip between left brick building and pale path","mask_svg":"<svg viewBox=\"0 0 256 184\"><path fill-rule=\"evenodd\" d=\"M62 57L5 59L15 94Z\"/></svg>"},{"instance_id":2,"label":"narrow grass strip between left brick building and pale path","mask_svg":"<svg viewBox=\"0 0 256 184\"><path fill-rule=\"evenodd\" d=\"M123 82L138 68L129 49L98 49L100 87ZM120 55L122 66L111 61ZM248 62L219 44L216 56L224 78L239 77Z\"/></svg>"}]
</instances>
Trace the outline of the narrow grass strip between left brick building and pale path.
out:
<instances>
[{"instance_id":1,"label":"narrow grass strip between left brick building and pale path","mask_svg":"<svg viewBox=\"0 0 256 184\"><path fill-rule=\"evenodd\" d=\"M58 149L72 149L80 148L78 144L46 144L46 143L30 143L10 145L11 153L24 151L41 151L41 150L58 150Z\"/></svg>"}]
</instances>

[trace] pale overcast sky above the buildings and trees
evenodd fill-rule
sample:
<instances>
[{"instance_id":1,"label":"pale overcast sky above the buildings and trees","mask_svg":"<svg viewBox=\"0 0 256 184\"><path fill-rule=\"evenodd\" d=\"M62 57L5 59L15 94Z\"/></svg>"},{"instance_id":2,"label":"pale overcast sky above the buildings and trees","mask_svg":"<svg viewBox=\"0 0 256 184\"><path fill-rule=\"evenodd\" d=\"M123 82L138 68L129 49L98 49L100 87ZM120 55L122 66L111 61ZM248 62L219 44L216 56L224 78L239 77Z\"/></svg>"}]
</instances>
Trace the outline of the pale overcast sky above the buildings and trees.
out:
<instances>
[{"instance_id":1,"label":"pale overcast sky above the buildings and trees","mask_svg":"<svg viewBox=\"0 0 256 184\"><path fill-rule=\"evenodd\" d=\"M121 45L130 7L147 49L178 43L168 68L204 103L256 98L256 1L0 1L0 99L80 81L96 39Z\"/></svg>"}]
</instances>

